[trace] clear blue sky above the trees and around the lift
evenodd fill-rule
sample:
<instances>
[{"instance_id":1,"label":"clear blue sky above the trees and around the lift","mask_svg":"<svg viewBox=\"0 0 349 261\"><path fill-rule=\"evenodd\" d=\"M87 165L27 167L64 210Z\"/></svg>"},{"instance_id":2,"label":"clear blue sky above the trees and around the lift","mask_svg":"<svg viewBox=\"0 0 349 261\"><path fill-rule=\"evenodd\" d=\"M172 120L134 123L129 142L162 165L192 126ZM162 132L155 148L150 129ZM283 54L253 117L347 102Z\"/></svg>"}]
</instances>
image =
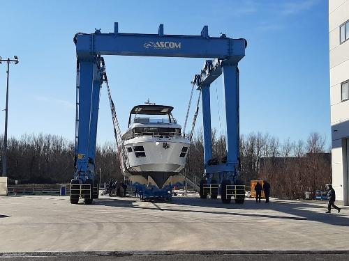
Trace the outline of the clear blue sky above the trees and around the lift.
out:
<instances>
[{"instance_id":1,"label":"clear blue sky above the trees and around the lift","mask_svg":"<svg viewBox=\"0 0 349 261\"><path fill-rule=\"evenodd\" d=\"M283 141L319 132L330 141L328 7L322 0L293 1L4 1L0 56L17 55L10 68L8 134L75 135L77 32L209 35L246 38L240 70L240 132L268 132ZM190 81L202 58L105 57L121 128L128 113L148 98L175 107L183 125ZM0 107L5 106L6 65L0 65ZM193 100L198 93L195 92ZM218 116L219 108L219 116ZM212 125L224 125L222 82L211 86ZM190 114L193 118L194 105ZM201 111L200 111L201 116ZM5 113L0 112L3 132ZM221 121L219 120L221 118ZM198 127L202 124L198 119ZM189 124L191 125L191 123ZM1 133L0 132L0 133ZM105 88L98 143L113 141Z\"/></svg>"}]
</instances>

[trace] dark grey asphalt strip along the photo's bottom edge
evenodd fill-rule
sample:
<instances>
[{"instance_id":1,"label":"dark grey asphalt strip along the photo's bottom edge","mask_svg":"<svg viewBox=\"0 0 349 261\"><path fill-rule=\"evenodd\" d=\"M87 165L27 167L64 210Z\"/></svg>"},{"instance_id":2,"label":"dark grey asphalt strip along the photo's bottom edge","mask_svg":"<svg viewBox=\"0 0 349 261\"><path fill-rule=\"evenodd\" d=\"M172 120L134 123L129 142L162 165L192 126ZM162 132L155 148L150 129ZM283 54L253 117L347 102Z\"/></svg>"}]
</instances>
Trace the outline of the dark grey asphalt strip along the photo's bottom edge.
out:
<instances>
[{"instance_id":1,"label":"dark grey asphalt strip along the photo's bottom edge","mask_svg":"<svg viewBox=\"0 0 349 261\"><path fill-rule=\"evenodd\" d=\"M240 251L158 251L158 252L82 252L82 253L10 253L5 254L0 260L10 261L197 261L197 260L234 260L234 261L346 261L348 260L348 251L323 253L318 251L311 252L285 252L276 251L274 253L257 252L240 252Z\"/></svg>"}]
</instances>

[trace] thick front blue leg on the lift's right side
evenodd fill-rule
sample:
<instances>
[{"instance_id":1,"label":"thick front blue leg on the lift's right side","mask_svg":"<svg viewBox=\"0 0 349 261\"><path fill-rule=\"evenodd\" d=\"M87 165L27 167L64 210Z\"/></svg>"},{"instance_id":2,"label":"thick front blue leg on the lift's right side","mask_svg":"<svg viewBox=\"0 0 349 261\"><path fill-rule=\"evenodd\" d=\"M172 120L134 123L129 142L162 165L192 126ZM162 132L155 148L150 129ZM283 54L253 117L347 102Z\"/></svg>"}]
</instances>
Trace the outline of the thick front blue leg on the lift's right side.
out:
<instances>
[{"instance_id":1,"label":"thick front blue leg on the lift's right side","mask_svg":"<svg viewBox=\"0 0 349 261\"><path fill-rule=\"evenodd\" d=\"M237 64L223 64L227 164L239 164L239 85Z\"/></svg>"}]
</instances>

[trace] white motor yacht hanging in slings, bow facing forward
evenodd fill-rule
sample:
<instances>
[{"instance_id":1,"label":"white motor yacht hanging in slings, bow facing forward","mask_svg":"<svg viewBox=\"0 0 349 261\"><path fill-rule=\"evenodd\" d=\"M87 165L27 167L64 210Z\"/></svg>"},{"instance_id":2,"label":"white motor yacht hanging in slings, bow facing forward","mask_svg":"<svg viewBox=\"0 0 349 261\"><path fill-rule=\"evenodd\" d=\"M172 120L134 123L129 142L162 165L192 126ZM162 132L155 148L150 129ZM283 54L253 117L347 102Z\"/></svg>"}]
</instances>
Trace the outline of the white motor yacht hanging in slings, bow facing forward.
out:
<instances>
[{"instance_id":1,"label":"white motor yacht hanging in slings, bow facing forward","mask_svg":"<svg viewBox=\"0 0 349 261\"><path fill-rule=\"evenodd\" d=\"M179 171L186 164L190 141L181 133L172 110L172 106L149 104L131 110L128 129L121 137L125 154L121 168L133 184L162 189L183 182Z\"/></svg>"}]
</instances>

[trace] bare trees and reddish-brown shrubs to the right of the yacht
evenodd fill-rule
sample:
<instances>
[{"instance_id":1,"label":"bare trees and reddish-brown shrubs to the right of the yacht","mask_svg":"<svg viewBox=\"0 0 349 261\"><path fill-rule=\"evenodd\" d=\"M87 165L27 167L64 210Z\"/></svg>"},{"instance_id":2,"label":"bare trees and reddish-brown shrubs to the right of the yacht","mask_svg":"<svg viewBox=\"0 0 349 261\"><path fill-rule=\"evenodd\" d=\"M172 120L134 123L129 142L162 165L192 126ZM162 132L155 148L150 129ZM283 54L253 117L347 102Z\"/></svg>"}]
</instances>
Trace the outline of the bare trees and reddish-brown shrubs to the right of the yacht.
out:
<instances>
[{"instance_id":1,"label":"bare trees and reddish-brown shrubs to the right of the yacht","mask_svg":"<svg viewBox=\"0 0 349 261\"><path fill-rule=\"evenodd\" d=\"M239 171L246 185L251 180L267 180L272 184L271 196L304 198L305 191L325 190L332 183L330 148L325 137L309 134L306 141L280 141L260 132L240 136ZM188 154L186 173L194 173L198 180L204 172L202 131L195 135ZM224 162L225 135L212 131L212 157Z\"/></svg>"}]
</instances>

